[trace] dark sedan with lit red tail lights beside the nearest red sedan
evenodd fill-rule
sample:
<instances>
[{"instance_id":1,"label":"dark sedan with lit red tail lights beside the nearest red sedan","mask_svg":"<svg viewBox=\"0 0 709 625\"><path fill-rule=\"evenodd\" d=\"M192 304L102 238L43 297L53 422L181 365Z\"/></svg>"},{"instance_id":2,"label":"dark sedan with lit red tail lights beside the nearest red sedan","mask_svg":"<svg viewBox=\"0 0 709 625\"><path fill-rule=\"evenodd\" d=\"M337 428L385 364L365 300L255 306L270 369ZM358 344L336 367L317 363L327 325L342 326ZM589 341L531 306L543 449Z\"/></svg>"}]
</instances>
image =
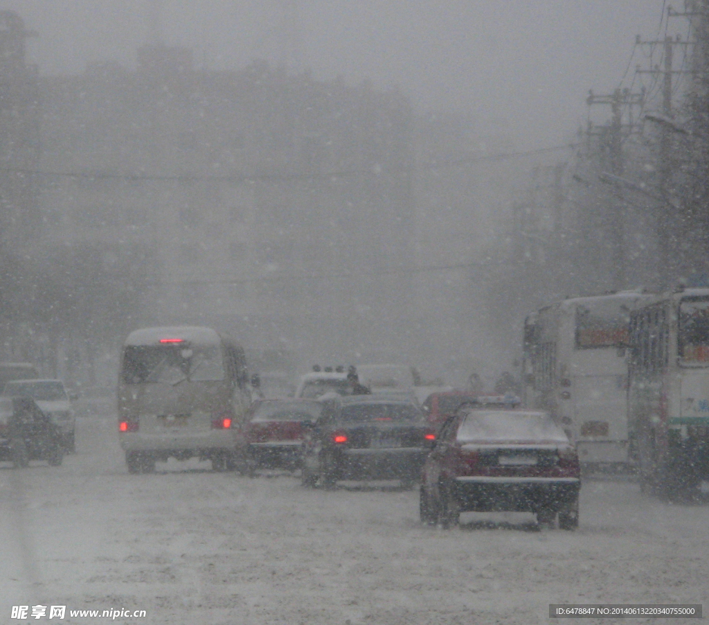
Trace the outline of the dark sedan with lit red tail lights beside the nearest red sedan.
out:
<instances>
[{"instance_id":1,"label":"dark sedan with lit red tail lights beside the nearest red sedan","mask_svg":"<svg viewBox=\"0 0 709 625\"><path fill-rule=\"evenodd\" d=\"M420 408L384 394L321 399L323 411L308 426L302 482L333 487L337 480L418 480L435 438Z\"/></svg>"}]
</instances>

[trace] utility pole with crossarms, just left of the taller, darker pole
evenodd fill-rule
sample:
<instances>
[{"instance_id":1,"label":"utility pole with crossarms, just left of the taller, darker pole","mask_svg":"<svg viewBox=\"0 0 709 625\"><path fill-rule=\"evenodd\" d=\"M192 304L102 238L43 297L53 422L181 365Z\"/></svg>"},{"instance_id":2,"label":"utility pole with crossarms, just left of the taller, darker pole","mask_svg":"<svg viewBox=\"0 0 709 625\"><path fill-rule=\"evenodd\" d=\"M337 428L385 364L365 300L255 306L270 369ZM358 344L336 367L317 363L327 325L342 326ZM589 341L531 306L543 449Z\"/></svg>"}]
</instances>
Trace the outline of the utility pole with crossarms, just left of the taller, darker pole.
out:
<instances>
[{"instance_id":1,"label":"utility pole with crossarms, just left of the taller, darker pole","mask_svg":"<svg viewBox=\"0 0 709 625\"><path fill-rule=\"evenodd\" d=\"M624 170L623 163L623 109L629 111L630 125L629 132L633 132L632 111L635 106L642 107L644 103L644 91L634 94L630 89L615 89L612 94L597 95L592 91L588 92L586 104L593 106L596 104L610 105L611 119L610 125L603 130L601 138L605 137L610 171L615 176L622 176ZM591 133L589 125L588 132ZM620 189L615 192L617 201L609 206L607 216L607 226L605 228L608 238L612 241L613 248L613 289L621 290L625 288L626 265L625 258L625 205Z\"/></svg>"}]
</instances>

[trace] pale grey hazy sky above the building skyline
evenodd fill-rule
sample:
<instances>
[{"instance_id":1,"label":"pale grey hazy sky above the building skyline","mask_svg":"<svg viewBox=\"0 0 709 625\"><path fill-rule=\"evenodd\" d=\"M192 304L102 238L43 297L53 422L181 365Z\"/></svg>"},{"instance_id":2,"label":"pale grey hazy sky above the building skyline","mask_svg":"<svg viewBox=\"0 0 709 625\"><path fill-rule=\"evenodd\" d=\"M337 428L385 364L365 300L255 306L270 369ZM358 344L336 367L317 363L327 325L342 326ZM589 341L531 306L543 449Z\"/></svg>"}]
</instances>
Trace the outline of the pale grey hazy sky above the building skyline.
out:
<instances>
[{"instance_id":1,"label":"pale grey hazy sky above the building skyline","mask_svg":"<svg viewBox=\"0 0 709 625\"><path fill-rule=\"evenodd\" d=\"M276 62L284 0L163 0L168 45L194 48L196 62L242 67ZM506 131L523 148L569 140L586 118L586 94L612 91L635 35L665 34L663 0L301 0L299 54L317 77L342 74L398 84L420 109L470 111L481 134ZM676 2L681 6L681 2ZM150 0L15 0L43 74L86 63L132 66L149 37ZM669 33L686 33L671 18ZM649 50L636 63L649 67ZM659 62L656 51L654 62ZM646 84L649 79L645 77ZM636 80L635 86L637 87ZM598 111L605 115L605 111Z\"/></svg>"}]
</instances>

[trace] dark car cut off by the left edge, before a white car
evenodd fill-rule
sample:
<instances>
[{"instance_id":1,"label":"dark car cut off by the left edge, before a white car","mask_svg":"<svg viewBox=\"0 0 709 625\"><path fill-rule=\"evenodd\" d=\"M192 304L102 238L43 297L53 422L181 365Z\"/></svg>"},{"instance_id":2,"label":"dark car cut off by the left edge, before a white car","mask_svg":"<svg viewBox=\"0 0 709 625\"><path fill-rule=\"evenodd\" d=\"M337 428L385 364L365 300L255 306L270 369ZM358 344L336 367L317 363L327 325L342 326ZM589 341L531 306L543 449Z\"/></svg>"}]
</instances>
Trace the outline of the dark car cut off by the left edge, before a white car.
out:
<instances>
[{"instance_id":1,"label":"dark car cut off by the left edge, before a white car","mask_svg":"<svg viewBox=\"0 0 709 625\"><path fill-rule=\"evenodd\" d=\"M51 466L62 464L62 437L31 397L0 397L0 460L16 468L30 460L47 460Z\"/></svg>"}]
</instances>

